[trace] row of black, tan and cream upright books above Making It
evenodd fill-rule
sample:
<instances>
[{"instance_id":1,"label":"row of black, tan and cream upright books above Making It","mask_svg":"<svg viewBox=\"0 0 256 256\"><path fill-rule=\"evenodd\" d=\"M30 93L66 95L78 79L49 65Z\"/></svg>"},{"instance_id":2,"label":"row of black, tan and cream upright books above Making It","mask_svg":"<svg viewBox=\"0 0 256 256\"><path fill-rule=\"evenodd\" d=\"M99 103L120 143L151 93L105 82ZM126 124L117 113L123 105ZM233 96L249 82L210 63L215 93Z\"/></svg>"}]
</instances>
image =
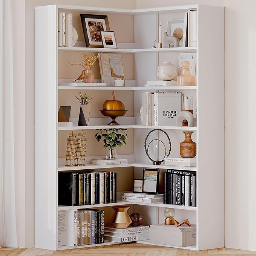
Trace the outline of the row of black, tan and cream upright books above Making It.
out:
<instances>
[{"instance_id":1,"label":"row of black, tan and cream upright books above Making It","mask_svg":"<svg viewBox=\"0 0 256 256\"><path fill-rule=\"evenodd\" d=\"M92 205L117 202L116 172L61 172L58 176L59 205Z\"/></svg>"}]
</instances>

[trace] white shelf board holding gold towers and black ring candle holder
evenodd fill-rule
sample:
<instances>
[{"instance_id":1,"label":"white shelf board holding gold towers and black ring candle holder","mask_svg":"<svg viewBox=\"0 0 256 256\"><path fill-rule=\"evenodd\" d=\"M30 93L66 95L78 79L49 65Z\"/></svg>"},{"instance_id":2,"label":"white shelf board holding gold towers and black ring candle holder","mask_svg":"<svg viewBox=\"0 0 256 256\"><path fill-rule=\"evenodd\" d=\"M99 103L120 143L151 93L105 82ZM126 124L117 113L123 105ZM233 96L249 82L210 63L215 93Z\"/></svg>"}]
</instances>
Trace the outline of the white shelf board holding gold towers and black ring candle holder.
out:
<instances>
[{"instance_id":1,"label":"white shelf board holding gold towers and black ring candle holder","mask_svg":"<svg viewBox=\"0 0 256 256\"><path fill-rule=\"evenodd\" d=\"M159 169L173 169L173 170L187 170L196 171L196 167L185 166L166 166L164 164L154 166L149 163L130 162L128 164L113 164L113 165L100 165L100 164L86 164L85 166L59 166L58 172L75 171L75 170L89 170L89 169L107 169L107 168L120 168L120 167L142 167L142 168L159 168Z\"/></svg>"}]
</instances>

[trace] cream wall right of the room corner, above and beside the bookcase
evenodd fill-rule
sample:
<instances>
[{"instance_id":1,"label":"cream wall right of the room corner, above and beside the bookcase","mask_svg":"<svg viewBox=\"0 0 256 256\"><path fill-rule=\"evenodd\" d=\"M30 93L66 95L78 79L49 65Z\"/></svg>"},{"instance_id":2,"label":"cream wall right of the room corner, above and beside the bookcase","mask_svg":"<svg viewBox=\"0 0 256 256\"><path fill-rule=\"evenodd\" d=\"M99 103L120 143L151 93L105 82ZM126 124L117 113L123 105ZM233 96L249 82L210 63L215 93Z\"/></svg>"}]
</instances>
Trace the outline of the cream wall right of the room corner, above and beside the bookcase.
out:
<instances>
[{"instance_id":1,"label":"cream wall right of the room corner, above and beside the bookcase","mask_svg":"<svg viewBox=\"0 0 256 256\"><path fill-rule=\"evenodd\" d=\"M225 6L225 247L255 251L256 1L137 0L137 8L195 3Z\"/></svg>"}]
</instances>

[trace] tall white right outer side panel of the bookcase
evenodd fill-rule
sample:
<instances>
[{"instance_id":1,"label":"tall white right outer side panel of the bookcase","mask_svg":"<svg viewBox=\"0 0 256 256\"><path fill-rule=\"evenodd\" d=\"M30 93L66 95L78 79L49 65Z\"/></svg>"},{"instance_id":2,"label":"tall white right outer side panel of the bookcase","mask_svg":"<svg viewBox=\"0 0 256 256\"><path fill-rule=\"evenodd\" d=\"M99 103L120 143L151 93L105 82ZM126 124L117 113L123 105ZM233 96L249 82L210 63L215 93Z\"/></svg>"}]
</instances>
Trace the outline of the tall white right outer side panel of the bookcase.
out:
<instances>
[{"instance_id":1,"label":"tall white right outer side panel of the bookcase","mask_svg":"<svg viewBox=\"0 0 256 256\"><path fill-rule=\"evenodd\" d=\"M224 15L198 8L197 246L224 245Z\"/></svg>"}]
</instances>

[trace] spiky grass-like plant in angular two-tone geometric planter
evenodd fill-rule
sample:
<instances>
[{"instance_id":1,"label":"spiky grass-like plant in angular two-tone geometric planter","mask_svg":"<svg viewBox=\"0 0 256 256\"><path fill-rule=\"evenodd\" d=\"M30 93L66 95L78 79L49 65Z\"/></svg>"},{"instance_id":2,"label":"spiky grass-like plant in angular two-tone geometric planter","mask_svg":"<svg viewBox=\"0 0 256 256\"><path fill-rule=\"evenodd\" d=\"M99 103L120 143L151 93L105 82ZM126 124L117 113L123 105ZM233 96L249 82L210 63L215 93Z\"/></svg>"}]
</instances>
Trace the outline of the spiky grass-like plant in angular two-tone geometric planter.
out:
<instances>
[{"instance_id":1,"label":"spiky grass-like plant in angular two-tone geometric planter","mask_svg":"<svg viewBox=\"0 0 256 256\"><path fill-rule=\"evenodd\" d=\"M88 95L87 92L84 92L83 94L79 92L80 98L75 96L77 100L80 102L80 112L79 112L79 118L78 118L78 126L88 126L89 122L89 115L90 115L90 101L92 100L91 94Z\"/></svg>"}]
</instances>

